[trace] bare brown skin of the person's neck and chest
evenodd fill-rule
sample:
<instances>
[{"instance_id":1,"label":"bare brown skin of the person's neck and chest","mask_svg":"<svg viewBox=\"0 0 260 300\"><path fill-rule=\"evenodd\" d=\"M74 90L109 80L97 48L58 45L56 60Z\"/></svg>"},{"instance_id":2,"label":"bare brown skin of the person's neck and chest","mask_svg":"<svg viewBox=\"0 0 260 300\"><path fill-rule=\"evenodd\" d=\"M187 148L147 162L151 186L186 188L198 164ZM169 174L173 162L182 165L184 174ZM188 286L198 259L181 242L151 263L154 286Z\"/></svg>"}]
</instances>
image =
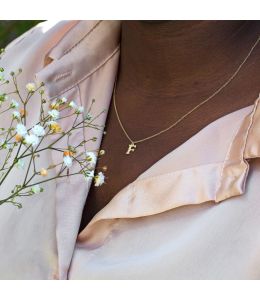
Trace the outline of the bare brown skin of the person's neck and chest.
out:
<instances>
[{"instance_id":1,"label":"bare brown skin of the person's neck and chest","mask_svg":"<svg viewBox=\"0 0 260 300\"><path fill-rule=\"evenodd\" d=\"M133 139L172 124L211 95L234 73L260 34L259 21L123 21L116 100ZM91 187L82 230L122 188L214 120L253 104L260 92L260 44L220 94L173 129L138 144L129 141L111 102L101 148L107 184Z\"/></svg>"}]
</instances>

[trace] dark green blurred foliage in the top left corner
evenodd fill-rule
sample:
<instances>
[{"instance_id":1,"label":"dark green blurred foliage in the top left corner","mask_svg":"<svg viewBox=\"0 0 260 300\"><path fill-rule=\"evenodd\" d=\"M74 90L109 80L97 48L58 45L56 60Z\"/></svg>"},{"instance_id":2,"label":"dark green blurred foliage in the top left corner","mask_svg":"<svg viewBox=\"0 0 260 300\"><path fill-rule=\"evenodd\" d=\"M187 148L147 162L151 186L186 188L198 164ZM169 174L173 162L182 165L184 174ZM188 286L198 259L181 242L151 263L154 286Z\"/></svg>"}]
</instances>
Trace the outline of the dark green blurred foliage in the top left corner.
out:
<instances>
[{"instance_id":1,"label":"dark green blurred foliage in the top left corner","mask_svg":"<svg viewBox=\"0 0 260 300\"><path fill-rule=\"evenodd\" d=\"M35 26L40 20L0 21L0 48L6 47L12 40Z\"/></svg>"}]
</instances>

